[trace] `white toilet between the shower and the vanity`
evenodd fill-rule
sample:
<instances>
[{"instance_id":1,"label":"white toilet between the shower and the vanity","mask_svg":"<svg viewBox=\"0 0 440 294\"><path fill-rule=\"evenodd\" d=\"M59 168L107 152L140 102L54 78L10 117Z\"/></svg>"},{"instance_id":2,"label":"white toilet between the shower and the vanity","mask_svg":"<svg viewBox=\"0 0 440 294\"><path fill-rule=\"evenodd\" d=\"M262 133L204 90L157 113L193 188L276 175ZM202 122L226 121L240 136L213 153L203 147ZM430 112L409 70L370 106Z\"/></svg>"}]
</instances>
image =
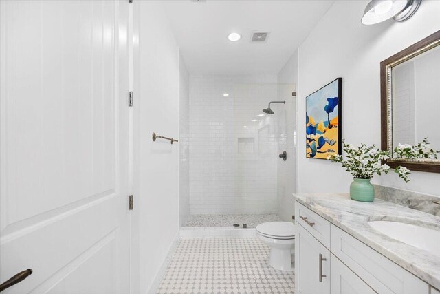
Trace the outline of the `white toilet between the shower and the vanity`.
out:
<instances>
[{"instance_id":1,"label":"white toilet between the shower and the vanity","mask_svg":"<svg viewBox=\"0 0 440 294\"><path fill-rule=\"evenodd\" d=\"M256 226L256 235L270 248L270 265L281 271L293 271L292 249L295 226L292 222L265 222Z\"/></svg>"}]
</instances>

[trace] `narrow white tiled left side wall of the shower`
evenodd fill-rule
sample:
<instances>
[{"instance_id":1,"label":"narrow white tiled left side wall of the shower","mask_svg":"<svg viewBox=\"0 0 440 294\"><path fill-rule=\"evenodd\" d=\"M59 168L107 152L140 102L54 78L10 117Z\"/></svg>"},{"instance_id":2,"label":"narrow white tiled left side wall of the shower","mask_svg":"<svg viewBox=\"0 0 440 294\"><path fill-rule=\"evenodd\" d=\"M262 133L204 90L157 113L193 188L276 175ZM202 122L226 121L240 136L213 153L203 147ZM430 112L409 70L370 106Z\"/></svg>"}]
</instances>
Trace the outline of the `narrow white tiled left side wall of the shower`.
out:
<instances>
[{"instance_id":1,"label":"narrow white tiled left side wall of the shower","mask_svg":"<svg viewBox=\"0 0 440 294\"><path fill-rule=\"evenodd\" d=\"M179 54L179 221L190 214L190 88L184 59Z\"/></svg>"}]
</instances>

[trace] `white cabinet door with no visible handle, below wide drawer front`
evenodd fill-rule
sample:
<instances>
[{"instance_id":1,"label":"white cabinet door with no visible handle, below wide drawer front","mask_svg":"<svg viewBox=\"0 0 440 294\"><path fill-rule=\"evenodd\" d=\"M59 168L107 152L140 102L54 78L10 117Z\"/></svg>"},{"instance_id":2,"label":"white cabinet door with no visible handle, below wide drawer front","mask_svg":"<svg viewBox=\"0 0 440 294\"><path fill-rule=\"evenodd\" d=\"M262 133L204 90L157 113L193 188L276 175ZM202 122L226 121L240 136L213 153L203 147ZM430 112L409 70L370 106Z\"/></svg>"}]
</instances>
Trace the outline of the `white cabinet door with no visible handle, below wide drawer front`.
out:
<instances>
[{"instance_id":1,"label":"white cabinet door with no visible handle, below wide drawer front","mask_svg":"<svg viewBox=\"0 0 440 294\"><path fill-rule=\"evenodd\" d=\"M351 269L331 254L331 294L372 294L376 293Z\"/></svg>"}]
</instances>

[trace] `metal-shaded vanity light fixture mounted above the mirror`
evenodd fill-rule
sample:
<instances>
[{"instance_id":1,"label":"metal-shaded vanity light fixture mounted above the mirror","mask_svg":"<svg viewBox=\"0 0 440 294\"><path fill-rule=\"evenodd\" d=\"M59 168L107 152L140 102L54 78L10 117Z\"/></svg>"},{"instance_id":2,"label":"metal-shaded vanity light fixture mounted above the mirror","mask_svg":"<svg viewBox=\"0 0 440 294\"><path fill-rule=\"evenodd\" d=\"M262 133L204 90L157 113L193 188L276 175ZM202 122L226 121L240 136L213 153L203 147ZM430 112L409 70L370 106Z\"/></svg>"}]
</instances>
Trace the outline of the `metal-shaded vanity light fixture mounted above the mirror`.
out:
<instances>
[{"instance_id":1,"label":"metal-shaded vanity light fixture mounted above the mirror","mask_svg":"<svg viewBox=\"0 0 440 294\"><path fill-rule=\"evenodd\" d=\"M372 0L365 8L362 23L374 25L387 19L406 21L419 8L421 0Z\"/></svg>"}]
</instances>

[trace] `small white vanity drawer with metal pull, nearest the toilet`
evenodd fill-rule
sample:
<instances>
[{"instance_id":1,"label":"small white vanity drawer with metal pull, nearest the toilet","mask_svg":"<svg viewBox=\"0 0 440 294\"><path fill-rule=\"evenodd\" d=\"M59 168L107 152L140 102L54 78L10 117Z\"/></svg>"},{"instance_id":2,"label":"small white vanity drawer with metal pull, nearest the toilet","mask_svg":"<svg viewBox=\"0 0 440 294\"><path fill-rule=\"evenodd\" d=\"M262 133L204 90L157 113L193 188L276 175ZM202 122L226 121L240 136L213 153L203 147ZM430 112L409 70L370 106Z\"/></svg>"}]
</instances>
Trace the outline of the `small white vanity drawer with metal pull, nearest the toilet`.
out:
<instances>
[{"instance_id":1,"label":"small white vanity drawer with metal pull, nearest the toilet","mask_svg":"<svg viewBox=\"0 0 440 294\"><path fill-rule=\"evenodd\" d=\"M327 249L330 249L330 222L303 204L295 202L295 222L305 228Z\"/></svg>"}]
</instances>

